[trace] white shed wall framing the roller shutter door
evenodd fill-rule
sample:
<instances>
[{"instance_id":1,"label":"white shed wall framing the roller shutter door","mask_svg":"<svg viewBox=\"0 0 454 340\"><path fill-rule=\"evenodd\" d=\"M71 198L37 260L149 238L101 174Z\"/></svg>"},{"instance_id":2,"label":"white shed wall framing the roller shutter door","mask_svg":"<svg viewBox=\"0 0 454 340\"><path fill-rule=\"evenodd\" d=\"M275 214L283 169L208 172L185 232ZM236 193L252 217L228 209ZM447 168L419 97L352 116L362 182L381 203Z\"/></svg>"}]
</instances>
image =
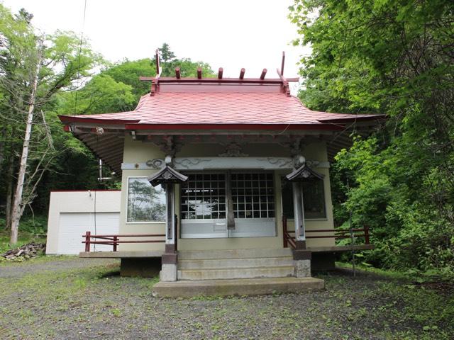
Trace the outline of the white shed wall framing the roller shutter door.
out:
<instances>
[{"instance_id":1,"label":"white shed wall framing the roller shutter door","mask_svg":"<svg viewBox=\"0 0 454 340\"><path fill-rule=\"evenodd\" d=\"M121 191L96 191L96 212L120 212ZM95 191L51 191L46 254L57 254L60 213L94 212ZM81 236L82 242L82 236Z\"/></svg>"}]
</instances>

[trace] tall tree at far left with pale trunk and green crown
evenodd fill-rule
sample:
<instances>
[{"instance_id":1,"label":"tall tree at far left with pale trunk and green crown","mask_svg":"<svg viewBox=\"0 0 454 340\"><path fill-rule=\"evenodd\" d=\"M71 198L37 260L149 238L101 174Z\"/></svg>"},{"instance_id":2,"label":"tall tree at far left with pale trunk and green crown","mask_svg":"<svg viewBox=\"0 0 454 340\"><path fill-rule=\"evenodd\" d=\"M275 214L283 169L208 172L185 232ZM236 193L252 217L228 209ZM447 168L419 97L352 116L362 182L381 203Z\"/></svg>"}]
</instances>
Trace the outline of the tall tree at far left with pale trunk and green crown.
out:
<instances>
[{"instance_id":1,"label":"tall tree at far left with pale trunk and green crown","mask_svg":"<svg viewBox=\"0 0 454 340\"><path fill-rule=\"evenodd\" d=\"M32 17L23 10L13 16L0 5L0 92L4 96L1 126L6 131L5 140L11 141L9 157L13 165L14 153L18 147L22 150L16 190L11 198L13 205L7 211L11 213L11 243L17 242L23 210L33 201L38 183L55 155L50 152L50 133L46 134L44 144L33 140L33 126L48 131L45 115L35 112L51 106L58 92L69 89L74 80L88 77L90 69L101 61L73 33L37 36L31 26ZM20 133L24 137L19 144ZM38 159L34 169L28 168L32 153Z\"/></svg>"}]
</instances>

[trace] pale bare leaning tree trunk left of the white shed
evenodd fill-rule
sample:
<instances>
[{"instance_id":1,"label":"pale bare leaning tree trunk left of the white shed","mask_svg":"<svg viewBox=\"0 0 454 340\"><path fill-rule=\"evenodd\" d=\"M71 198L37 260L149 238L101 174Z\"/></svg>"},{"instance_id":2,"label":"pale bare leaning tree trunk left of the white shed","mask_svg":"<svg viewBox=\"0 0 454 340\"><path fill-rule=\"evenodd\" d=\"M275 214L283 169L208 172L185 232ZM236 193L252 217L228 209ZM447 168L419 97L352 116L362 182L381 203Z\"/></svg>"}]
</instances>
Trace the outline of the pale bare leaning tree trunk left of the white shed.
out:
<instances>
[{"instance_id":1,"label":"pale bare leaning tree trunk left of the white shed","mask_svg":"<svg viewBox=\"0 0 454 340\"><path fill-rule=\"evenodd\" d=\"M32 86L32 90L31 90L30 101L28 104L26 135L23 138L21 164L19 166L19 172L18 172L18 177L17 177L16 193L14 194L13 213L11 216L11 238L10 238L11 244L17 243L19 221L21 220L22 212L23 212L23 208L22 208L23 183L26 178L28 147L30 145L30 139L31 139L31 128L33 125L33 112L35 110L36 89L38 87L38 75L40 72L41 53L43 50L42 42L38 48L39 48L38 62L36 65L35 72L33 74L33 86Z\"/></svg>"}]
</instances>

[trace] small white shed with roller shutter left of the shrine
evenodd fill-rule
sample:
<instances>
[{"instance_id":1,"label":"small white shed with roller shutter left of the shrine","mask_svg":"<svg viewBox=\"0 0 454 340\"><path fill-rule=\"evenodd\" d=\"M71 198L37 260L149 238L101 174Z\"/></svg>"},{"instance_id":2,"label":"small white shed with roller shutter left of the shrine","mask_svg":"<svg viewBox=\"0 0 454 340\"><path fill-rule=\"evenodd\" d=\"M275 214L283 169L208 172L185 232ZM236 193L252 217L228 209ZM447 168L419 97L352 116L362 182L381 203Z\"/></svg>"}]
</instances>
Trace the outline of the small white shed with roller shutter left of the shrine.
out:
<instances>
[{"instance_id":1,"label":"small white shed with roller shutter left of the shrine","mask_svg":"<svg viewBox=\"0 0 454 340\"><path fill-rule=\"evenodd\" d=\"M82 234L118 234L121 191L52 191L50 193L46 254L79 254ZM96 244L91 251L111 251Z\"/></svg>"}]
</instances>

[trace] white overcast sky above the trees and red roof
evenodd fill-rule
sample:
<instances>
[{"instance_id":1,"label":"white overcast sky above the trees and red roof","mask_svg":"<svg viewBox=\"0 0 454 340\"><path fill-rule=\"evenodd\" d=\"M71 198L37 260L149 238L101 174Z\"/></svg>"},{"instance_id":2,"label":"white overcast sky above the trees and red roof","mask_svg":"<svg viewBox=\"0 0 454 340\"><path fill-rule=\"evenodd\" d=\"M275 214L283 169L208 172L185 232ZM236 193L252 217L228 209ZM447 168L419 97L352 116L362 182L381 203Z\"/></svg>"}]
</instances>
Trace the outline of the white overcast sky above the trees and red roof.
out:
<instances>
[{"instance_id":1,"label":"white overcast sky above the trees and red roof","mask_svg":"<svg viewBox=\"0 0 454 340\"><path fill-rule=\"evenodd\" d=\"M1 1L1 0L0 0ZM282 51L284 75L297 77L300 56L309 53L289 42L297 27L287 18L292 0L87 0L84 36L107 60L153 57L167 42L177 57L223 67L224 77L277 77ZM81 32L84 0L4 0L16 13L26 8L45 33ZM147 74L144 74L147 75Z\"/></svg>"}]
</instances>

